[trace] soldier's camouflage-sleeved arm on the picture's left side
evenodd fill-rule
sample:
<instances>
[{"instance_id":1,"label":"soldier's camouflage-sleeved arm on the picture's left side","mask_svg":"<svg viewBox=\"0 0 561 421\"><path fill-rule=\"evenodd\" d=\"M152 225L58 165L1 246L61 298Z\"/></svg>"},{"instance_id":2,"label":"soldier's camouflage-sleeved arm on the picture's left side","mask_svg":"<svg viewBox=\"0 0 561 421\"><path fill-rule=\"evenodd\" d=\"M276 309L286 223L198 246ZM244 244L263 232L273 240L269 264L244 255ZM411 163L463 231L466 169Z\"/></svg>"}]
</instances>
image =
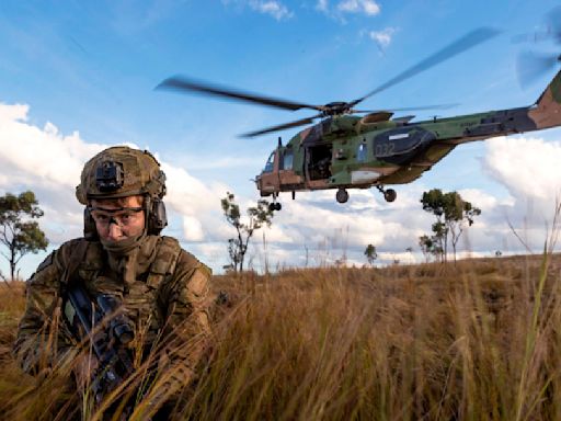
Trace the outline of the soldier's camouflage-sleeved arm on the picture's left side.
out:
<instances>
[{"instance_id":1,"label":"soldier's camouflage-sleeved arm on the picture's left side","mask_svg":"<svg viewBox=\"0 0 561 421\"><path fill-rule=\"evenodd\" d=\"M50 253L26 283L25 312L13 346L24 372L37 374L60 363L72 350L60 314L61 249Z\"/></svg>"}]
</instances>

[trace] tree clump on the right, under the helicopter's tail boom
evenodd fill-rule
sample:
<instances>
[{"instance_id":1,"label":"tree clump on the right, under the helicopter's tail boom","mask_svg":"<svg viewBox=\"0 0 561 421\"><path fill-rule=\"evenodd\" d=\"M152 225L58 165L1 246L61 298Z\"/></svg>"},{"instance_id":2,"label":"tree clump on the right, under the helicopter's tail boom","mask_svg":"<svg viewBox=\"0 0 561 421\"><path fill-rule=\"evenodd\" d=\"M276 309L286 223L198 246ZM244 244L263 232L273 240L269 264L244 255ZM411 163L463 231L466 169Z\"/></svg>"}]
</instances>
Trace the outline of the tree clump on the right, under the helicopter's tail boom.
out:
<instances>
[{"instance_id":1,"label":"tree clump on the right, under the helicopter's tail boom","mask_svg":"<svg viewBox=\"0 0 561 421\"><path fill-rule=\"evenodd\" d=\"M458 192L443 193L439 189L433 189L423 193L421 198L423 209L436 216L433 224L434 236L432 239L437 242L442 250L442 258L446 261L448 255L448 238L450 237L456 261L456 247L463 234L466 223L473 224L473 218L481 215L481 209L474 207L470 202L463 201Z\"/></svg>"}]
</instances>

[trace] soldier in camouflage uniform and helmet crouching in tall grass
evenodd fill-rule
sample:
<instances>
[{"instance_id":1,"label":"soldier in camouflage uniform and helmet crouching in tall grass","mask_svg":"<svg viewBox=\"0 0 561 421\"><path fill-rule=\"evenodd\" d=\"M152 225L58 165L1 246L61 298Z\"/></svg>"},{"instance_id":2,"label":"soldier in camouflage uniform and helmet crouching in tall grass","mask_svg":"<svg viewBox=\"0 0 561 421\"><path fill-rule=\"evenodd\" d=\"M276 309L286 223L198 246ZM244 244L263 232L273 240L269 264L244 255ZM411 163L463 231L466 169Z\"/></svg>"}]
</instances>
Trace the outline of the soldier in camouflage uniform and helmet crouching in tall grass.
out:
<instances>
[{"instance_id":1,"label":"soldier in camouflage uniform and helmet crouching in tall grass","mask_svg":"<svg viewBox=\"0 0 561 421\"><path fill-rule=\"evenodd\" d=\"M167 373L160 396L174 397L194 377L209 334L210 270L160 236L167 226L165 175L148 151L112 147L88 161L76 189L85 205L84 237L50 253L27 281L26 308L14 344L26 373L38 375L69 361L79 386L98 373L91 354L79 354L69 329L65 292L70 282L95 301L108 294L134 332L126 341L136 366L154 350Z\"/></svg>"}]
</instances>

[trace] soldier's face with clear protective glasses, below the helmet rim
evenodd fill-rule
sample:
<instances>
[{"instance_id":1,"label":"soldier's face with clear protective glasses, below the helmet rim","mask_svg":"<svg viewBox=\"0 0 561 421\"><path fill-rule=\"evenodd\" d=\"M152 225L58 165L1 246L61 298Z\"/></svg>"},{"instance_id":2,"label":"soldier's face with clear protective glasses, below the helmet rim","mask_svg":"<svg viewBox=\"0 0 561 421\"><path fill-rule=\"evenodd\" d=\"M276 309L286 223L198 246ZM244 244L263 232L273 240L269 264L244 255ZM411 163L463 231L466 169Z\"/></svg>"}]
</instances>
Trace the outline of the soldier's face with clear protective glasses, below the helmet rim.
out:
<instances>
[{"instance_id":1,"label":"soldier's face with clear protective glasses, below the helmet rim","mask_svg":"<svg viewBox=\"0 0 561 421\"><path fill-rule=\"evenodd\" d=\"M102 240L122 241L145 229L142 196L92 201L92 217Z\"/></svg>"}]
</instances>

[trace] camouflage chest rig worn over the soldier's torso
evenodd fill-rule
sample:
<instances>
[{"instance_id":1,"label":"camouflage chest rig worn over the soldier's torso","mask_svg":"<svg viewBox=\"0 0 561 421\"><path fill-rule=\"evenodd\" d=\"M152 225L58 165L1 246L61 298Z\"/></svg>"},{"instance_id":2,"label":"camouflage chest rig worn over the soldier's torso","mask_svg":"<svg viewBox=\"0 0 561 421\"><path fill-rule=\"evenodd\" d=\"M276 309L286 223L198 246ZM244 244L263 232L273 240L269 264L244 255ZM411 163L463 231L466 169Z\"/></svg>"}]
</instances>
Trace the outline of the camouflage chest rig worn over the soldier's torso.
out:
<instances>
[{"instance_id":1,"label":"camouflage chest rig worn over the soldier's torso","mask_svg":"<svg viewBox=\"0 0 561 421\"><path fill-rule=\"evenodd\" d=\"M178 240L159 237L148 268L128 282L111 270L107 253L100 242L82 241L77 250L83 258L75 276L83 282L90 296L101 293L114 296L134 323L135 337L145 344L153 342L168 316L171 278L181 253Z\"/></svg>"}]
</instances>

